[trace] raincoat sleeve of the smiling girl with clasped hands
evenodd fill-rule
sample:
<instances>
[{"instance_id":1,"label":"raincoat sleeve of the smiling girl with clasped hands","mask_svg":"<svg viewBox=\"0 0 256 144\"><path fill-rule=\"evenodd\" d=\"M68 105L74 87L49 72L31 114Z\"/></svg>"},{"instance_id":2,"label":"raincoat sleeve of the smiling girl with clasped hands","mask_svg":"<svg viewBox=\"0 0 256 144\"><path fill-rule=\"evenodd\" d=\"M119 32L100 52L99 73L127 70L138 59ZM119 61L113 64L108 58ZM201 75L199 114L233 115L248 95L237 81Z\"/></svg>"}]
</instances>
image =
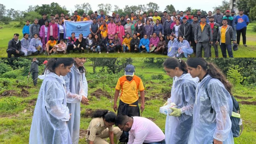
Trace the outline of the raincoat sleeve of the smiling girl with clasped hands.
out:
<instances>
[{"instance_id":1,"label":"raincoat sleeve of the smiling girl with clasped hands","mask_svg":"<svg viewBox=\"0 0 256 144\"><path fill-rule=\"evenodd\" d=\"M66 82L66 94L67 94L67 103L79 103L82 100L81 95L77 95L76 93L72 93L70 91L70 86L74 86L72 83L72 73L69 72L65 77L63 77ZM87 83L87 82L86 82Z\"/></svg>"}]
</instances>

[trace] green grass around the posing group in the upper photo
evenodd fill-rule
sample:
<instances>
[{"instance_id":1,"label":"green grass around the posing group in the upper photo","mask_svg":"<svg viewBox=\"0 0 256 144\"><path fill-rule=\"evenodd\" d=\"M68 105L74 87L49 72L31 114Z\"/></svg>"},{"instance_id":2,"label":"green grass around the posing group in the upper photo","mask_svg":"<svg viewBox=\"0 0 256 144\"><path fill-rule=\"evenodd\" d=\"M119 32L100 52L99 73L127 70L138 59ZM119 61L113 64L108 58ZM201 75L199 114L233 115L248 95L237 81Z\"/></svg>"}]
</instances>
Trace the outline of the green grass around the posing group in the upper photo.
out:
<instances>
[{"instance_id":1,"label":"green grass around the posing group in the upper photo","mask_svg":"<svg viewBox=\"0 0 256 144\"><path fill-rule=\"evenodd\" d=\"M7 57L6 53L6 48L8 46L9 40L13 38L14 33L19 33L19 39L22 39L23 34L22 34L22 28L17 28L16 25L18 25L18 22L10 22L9 25L4 25L0 23L0 57ZM253 26L255 26L256 23L251 23L247 27L247 33L246 33L246 39L247 39L247 47L244 47L243 45L240 44L238 51L233 51L233 56L234 57L255 57L256 56L256 32L253 31ZM241 38L242 40L242 38ZM242 43L242 41L241 41ZM214 55L214 49L211 49L212 52L212 57L215 57ZM221 54L221 48L218 46L218 52L219 52L219 57L222 57ZM194 56L194 55L193 55ZM33 56L30 56L33 57ZM78 54L77 52L75 53L70 53L70 54L60 54L60 55L51 55L51 56L46 56L46 55L38 55L37 57L167 57L165 55L157 55L157 54L140 54L140 53L102 53L102 54L93 54L93 53L84 53L84 54Z\"/></svg>"}]
</instances>

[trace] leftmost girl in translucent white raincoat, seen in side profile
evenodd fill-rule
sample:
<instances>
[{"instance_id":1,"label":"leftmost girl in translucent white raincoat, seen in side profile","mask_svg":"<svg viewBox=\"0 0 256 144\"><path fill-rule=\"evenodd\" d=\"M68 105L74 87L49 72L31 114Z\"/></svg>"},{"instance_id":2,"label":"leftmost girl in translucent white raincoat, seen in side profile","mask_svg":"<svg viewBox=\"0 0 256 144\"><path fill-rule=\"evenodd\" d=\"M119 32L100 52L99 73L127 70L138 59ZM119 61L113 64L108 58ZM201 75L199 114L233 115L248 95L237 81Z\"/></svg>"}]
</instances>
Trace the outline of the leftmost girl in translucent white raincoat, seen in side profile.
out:
<instances>
[{"instance_id":1,"label":"leftmost girl in translucent white raincoat, seen in side profile","mask_svg":"<svg viewBox=\"0 0 256 144\"><path fill-rule=\"evenodd\" d=\"M30 144L72 144L67 121L65 81L73 66L72 58L51 58L41 85L29 134Z\"/></svg>"}]
</instances>

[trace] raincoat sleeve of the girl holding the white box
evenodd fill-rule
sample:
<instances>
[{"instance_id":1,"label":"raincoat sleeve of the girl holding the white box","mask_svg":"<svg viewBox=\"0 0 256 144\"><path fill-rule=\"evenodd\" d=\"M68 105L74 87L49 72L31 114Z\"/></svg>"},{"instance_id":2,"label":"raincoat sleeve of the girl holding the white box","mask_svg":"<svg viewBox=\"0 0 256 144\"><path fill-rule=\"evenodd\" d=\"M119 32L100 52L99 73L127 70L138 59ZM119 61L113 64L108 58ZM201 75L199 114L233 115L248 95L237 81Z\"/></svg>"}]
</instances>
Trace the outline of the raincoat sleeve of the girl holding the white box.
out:
<instances>
[{"instance_id":1,"label":"raincoat sleeve of the girl holding the white box","mask_svg":"<svg viewBox=\"0 0 256 144\"><path fill-rule=\"evenodd\" d=\"M186 83L184 85L184 95L185 101L187 104L181 108L182 113L186 115L193 115L193 108L195 103L195 89L196 87L193 86L193 83Z\"/></svg>"}]
</instances>

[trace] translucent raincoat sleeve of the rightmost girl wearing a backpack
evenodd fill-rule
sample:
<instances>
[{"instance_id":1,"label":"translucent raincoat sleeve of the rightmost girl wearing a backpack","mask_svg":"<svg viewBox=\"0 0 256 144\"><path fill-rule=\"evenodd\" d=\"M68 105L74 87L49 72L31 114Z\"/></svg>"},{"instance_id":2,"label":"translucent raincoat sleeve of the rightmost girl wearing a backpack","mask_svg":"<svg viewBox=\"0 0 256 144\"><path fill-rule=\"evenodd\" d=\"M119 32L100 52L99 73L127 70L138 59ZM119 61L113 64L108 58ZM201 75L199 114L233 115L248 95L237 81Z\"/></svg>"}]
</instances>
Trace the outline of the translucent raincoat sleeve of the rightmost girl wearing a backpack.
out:
<instances>
[{"instance_id":1,"label":"translucent raincoat sleeve of the rightmost girl wearing a backpack","mask_svg":"<svg viewBox=\"0 0 256 144\"><path fill-rule=\"evenodd\" d=\"M224 87L220 87L215 82L208 84L208 93L212 108L216 112L216 129L213 138L223 142L228 138L231 130L231 120L228 113L230 110L228 97L230 95Z\"/></svg>"}]
</instances>

